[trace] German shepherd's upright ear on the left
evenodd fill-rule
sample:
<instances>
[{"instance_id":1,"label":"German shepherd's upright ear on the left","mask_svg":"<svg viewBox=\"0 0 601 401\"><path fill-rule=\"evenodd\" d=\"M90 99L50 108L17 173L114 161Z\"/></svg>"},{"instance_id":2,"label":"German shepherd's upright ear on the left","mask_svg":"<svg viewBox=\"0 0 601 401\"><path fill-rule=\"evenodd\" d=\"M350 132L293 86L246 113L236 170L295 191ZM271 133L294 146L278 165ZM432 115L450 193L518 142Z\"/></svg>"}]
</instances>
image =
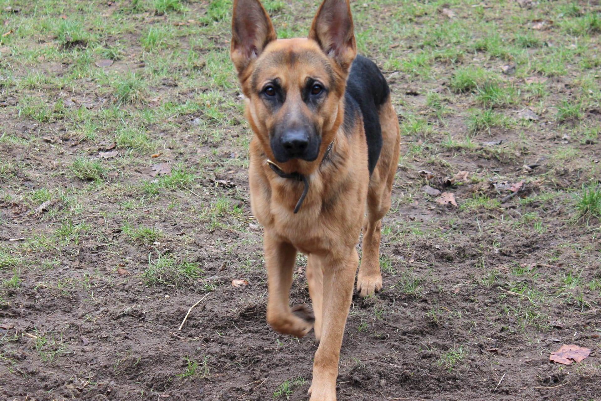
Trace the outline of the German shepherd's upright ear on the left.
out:
<instances>
[{"instance_id":1,"label":"German shepherd's upright ear on the left","mask_svg":"<svg viewBox=\"0 0 601 401\"><path fill-rule=\"evenodd\" d=\"M238 75L275 39L271 20L259 0L234 0L230 56Z\"/></svg>"}]
</instances>

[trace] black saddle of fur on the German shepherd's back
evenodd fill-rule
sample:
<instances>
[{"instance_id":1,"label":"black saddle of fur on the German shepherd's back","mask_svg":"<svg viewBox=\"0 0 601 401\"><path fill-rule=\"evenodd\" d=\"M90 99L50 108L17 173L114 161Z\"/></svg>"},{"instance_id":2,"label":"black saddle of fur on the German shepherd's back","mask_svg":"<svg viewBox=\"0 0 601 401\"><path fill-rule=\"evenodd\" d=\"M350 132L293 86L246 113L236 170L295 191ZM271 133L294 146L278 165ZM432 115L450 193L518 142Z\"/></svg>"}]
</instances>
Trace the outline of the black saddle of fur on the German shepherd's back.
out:
<instances>
[{"instance_id":1,"label":"black saddle of fur on the German shepherd's back","mask_svg":"<svg viewBox=\"0 0 601 401\"><path fill-rule=\"evenodd\" d=\"M345 132L353 132L354 116L360 110L368 148L368 167L370 174L376 167L382 150L382 128L379 109L390 95L390 89L380 69L368 58L357 55L350 68L346 82Z\"/></svg>"}]
</instances>

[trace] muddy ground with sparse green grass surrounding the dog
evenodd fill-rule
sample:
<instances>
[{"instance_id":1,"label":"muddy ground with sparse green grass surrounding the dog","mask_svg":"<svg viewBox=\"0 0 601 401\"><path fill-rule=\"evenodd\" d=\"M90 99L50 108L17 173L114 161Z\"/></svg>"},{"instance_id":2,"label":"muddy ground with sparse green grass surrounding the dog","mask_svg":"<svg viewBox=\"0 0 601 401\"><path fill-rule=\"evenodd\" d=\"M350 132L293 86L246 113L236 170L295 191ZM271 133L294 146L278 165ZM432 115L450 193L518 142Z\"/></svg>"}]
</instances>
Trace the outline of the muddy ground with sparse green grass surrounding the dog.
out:
<instances>
[{"instance_id":1,"label":"muddy ground with sparse green grass surrounding the dog","mask_svg":"<svg viewBox=\"0 0 601 401\"><path fill-rule=\"evenodd\" d=\"M317 5L266 2L279 37ZM265 322L231 2L0 6L0 398L308 399L313 334ZM601 5L353 13L403 144L338 399L601 400Z\"/></svg>"}]
</instances>

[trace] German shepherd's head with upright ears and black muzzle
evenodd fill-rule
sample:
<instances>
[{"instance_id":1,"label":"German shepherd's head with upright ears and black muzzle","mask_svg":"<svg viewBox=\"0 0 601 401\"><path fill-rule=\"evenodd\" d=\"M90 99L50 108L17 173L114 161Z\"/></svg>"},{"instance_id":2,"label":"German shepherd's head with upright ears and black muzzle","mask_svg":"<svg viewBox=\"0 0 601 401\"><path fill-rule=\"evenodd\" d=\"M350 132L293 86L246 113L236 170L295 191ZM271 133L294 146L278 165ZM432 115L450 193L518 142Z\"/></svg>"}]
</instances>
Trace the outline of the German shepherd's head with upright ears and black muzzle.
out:
<instances>
[{"instance_id":1,"label":"German shepherd's head with upright ears and black muzzle","mask_svg":"<svg viewBox=\"0 0 601 401\"><path fill-rule=\"evenodd\" d=\"M343 119L338 106L355 55L349 0L324 0L308 38L279 40L260 1L234 0L231 59L268 157L323 155Z\"/></svg>"}]
</instances>

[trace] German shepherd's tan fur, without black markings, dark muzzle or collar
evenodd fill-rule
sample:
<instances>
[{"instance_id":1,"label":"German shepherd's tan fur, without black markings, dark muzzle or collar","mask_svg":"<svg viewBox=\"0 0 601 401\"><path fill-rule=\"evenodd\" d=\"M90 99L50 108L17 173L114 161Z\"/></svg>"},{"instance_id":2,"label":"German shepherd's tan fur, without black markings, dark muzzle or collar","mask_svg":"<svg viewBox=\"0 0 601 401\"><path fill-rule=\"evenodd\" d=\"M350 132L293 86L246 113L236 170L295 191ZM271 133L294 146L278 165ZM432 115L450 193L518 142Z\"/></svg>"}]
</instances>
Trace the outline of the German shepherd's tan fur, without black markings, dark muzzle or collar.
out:
<instances>
[{"instance_id":1,"label":"German shepherd's tan fur, without black markings, dark muzzle or collar","mask_svg":"<svg viewBox=\"0 0 601 401\"><path fill-rule=\"evenodd\" d=\"M269 17L266 22L261 15L263 8L258 0L234 2L232 58L246 97L245 115L254 132L250 145L249 185L252 213L264 227L263 246L269 289L267 321L275 330L298 337L314 327L319 347L310 389L312 401L336 399L338 358L359 263L356 244L361 228L364 230L363 259L357 290L361 296L367 296L382 289L380 220L390 207L400 144L397 117L390 99L379 111L383 146L371 178L362 122L355 123L356 132L352 135L345 135L341 128L347 70L356 54L354 36L352 40L344 37L344 46L334 48L331 57L328 57L318 42L321 46L330 42L335 46L335 37L324 37L330 31L318 20L320 16L326 19L327 13L338 12L344 7L350 17L347 1L325 0L311 28L311 39L273 40L273 27ZM242 11L238 10L248 11L249 8L252 15L258 16L257 23L263 24L258 31L263 32L264 40L252 37L252 41L245 43L243 37L236 37L236 29L240 29L236 28L236 24L249 23L240 17ZM352 19L350 24L352 34ZM259 54L253 53L256 43L261 44ZM240 56L244 54L249 56ZM289 56L293 61L275 63L274 54L284 59ZM308 57L297 60L292 54ZM318 111L312 111L300 99L299 88L304 85L307 76L328 81L328 73L322 69L324 63L329 63L333 72L335 90L328 94L328 99ZM260 88L264 80L273 77L280 79L287 91L287 100L277 112L270 111L263 104L256 93L257 88L252 85L254 79ZM293 213L293 209L301 195L302 183L279 177L267 164L267 159L273 160L270 129L273 124L282 118L290 118L294 113L311 118L321 127L322 135L316 161L292 159L279 164L287 173L297 171L309 177L310 190L297 214ZM336 162L321 164L331 142L331 153L335 155L332 157ZM367 217L364 218L366 206ZM290 308L289 293L297 251L308 254L307 278L315 313L314 324Z\"/></svg>"}]
</instances>

